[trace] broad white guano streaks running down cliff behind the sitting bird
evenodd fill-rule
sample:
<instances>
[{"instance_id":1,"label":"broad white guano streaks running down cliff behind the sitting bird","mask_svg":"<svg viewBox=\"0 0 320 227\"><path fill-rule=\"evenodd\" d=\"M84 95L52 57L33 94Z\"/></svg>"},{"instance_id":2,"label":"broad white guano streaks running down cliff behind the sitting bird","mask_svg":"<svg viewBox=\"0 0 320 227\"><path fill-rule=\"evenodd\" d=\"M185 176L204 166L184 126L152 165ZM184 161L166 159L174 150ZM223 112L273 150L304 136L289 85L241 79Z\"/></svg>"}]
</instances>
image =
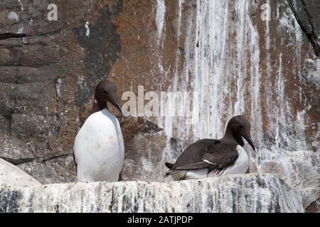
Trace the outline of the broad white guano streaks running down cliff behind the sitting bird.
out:
<instances>
[{"instance_id":1,"label":"broad white guano streaks running down cliff behind the sitting bird","mask_svg":"<svg viewBox=\"0 0 320 227\"><path fill-rule=\"evenodd\" d=\"M159 126L164 127L168 141L172 137L178 138L185 149L199 138L220 138L231 117L245 114L250 119L251 135L258 148L254 155L258 169L259 160L283 156L280 162L289 163L290 150L304 149L306 145L304 114L309 107L294 113L285 92L284 73L288 72L283 69L284 56L279 53L276 59L271 59L275 51L271 43L281 43L282 37L270 30L270 21L255 21L252 12L260 11L260 4L254 1L238 0L229 4L227 0L197 0L196 7L191 9L183 4L188 2L178 1L176 18L176 43L183 48L183 63L178 65L181 52L176 51L176 66L168 91L198 92L199 121L186 125L183 117L159 118ZM282 9L282 3L272 3L272 7L274 4L277 9ZM163 15L160 6L158 1L158 42L165 35L159 20L162 18L159 15ZM290 13L288 10L277 14L277 29L287 30L289 37L297 43L294 57L297 67L292 67L292 74L299 74L302 34ZM265 27L265 31L258 30L258 23ZM261 50L264 55L260 59ZM262 66L265 69L263 83ZM182 101L181 108L186 108L183 105ZM266 122L262 121L262 114ZM264 123L265 131L262 131ZM274 141L270 143L268 138ZM171 162L178 154L173 154L170 143L167 144L162 159ZM289 164L284 171L287 176L294 174Z\"/></svg>"}]
</instances>

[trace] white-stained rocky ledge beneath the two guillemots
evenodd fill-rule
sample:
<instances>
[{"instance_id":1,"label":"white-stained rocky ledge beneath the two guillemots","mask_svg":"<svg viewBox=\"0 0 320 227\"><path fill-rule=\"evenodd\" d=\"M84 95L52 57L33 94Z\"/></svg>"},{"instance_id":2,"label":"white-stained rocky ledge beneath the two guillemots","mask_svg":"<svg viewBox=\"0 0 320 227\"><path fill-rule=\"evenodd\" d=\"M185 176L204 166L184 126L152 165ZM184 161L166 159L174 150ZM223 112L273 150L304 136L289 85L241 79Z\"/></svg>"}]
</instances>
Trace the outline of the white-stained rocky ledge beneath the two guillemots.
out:
<instances>
[{"instance_id":1,"label":"white-stained rocky ledge beneath the two guillemots","mask_svg":"<svg viewBox=\"0 0 320 227\"><path fill-rule=\"evenodd\" d=\"M1 212L304 212L274 175L181 182L92 182L0 187Z\"/></svg>"}]
</instances>

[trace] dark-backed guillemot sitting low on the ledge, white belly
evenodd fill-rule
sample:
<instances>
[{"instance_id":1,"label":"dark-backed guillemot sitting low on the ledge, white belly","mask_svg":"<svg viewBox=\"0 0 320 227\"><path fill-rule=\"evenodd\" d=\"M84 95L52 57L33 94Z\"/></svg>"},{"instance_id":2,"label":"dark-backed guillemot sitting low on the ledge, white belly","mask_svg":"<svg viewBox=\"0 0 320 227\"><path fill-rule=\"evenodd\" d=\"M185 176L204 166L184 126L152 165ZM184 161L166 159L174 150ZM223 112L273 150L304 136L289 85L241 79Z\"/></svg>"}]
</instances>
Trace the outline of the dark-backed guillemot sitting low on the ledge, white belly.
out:
<instances>
[{"instance_id":1,"label":"dark-backed guillemot sitting low on the ledge, white belly","mask_svg":"<svg viewBox=\"0 0 320 227\"><path fill-rule=\"evenodd\" d=\"M170 169L166 176L181 180L247 172L250 153L243 148L242 137L255 150L250 138L250 123L239 115L230 119L222 139L198 140L181 153L176 163L166 162Z\"/></svg>"}]
</instances>

